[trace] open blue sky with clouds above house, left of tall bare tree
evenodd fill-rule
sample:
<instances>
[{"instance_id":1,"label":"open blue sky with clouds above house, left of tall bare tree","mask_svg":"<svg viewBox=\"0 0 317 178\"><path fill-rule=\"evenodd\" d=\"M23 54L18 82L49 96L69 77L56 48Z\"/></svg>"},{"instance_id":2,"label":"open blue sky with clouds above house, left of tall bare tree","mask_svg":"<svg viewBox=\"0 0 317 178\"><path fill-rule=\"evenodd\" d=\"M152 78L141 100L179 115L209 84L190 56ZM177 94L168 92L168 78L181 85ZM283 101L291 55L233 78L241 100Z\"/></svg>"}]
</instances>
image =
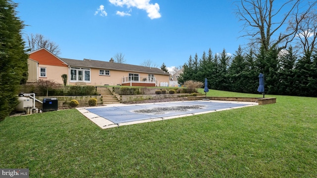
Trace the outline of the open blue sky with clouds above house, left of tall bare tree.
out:
<instances>
[{"instance_id":1,"label":"open blue sky with clouds above house, left of tall bare tree","mask_svg":"<svg viewBox=\"0 0 317 178\"><path fill-rule=\"evenodd\" d=\"M56 43L60 57L125 63L151 60L158 67L181 66L201 57L235 53L247 42L232 0L13 0L23 33L42 34Z\"/></svg>"}]
</instances>

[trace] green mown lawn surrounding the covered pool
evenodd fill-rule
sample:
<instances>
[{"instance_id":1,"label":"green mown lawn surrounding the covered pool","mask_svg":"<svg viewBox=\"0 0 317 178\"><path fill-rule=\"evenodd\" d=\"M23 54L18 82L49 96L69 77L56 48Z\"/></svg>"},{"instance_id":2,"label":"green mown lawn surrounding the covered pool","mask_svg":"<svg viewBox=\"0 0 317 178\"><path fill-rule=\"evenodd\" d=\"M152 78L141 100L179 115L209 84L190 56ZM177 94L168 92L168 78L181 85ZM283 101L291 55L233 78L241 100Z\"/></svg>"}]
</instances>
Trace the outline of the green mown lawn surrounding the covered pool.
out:
<instances>
[{"instance_id":1,"label":"green mown lawn surrounding the covered pool","mask_svg":"<svg viewBox=\"0 0 317 178\"><path fill-rule=\"evenodd\" d=\"M209 96L251 96L211 90ZM77 110L0 122L0 168L30 177L317 177L317 98L101 130Z\"/></svg>"}]
</instances>

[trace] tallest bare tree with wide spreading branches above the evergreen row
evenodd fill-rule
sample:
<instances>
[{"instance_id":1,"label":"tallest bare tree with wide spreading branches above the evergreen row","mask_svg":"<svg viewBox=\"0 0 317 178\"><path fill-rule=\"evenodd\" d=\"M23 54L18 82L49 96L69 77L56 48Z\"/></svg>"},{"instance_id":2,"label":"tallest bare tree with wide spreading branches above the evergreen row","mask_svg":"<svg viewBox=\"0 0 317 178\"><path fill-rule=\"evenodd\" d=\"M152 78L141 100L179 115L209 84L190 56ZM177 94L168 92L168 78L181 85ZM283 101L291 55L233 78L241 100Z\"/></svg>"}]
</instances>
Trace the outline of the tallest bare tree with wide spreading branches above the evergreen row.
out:
<instances>
[{"instance_id":1,"label":"tallest bare tree with wide spreading branches above the evergreen row","mask_svg":"<svg viewBox=\"0 0 317 178\"><path fill-rule=\"evenodd\" d=\"M317 1L307 0L238 0L237 15L244 22L243 37L251 37L251 44L260 44L265 50L278 47L286 48L298 28L286 31L287 23L294 19L295 26L300 24ZM285 29L283 30L282 28Z\"/></svg>"}]
</instances>

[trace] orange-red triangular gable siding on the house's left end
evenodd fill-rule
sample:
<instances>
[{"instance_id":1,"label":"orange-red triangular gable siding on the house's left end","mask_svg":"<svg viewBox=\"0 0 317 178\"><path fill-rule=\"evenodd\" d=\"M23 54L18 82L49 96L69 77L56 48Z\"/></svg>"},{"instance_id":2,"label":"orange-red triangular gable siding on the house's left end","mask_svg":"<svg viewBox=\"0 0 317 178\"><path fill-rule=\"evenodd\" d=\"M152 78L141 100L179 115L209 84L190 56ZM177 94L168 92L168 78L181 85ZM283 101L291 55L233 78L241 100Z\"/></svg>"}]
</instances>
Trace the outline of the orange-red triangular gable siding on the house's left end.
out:
<instances>
[{"instance_id":1,"label":"orange-red triangular gable siding on the house's left end","mask_svg":"<svg viewBox=\"0 0 317 178\"><path fill-rule=\"evenodd\" d=\"M51 54L49 51L45 49L40 49L36 52L31 53L29 58L35 61L38 61L39 64L43 64L43 65L53 65L53 66L63 66L63 67L67 66L66 64L64 64L64 62L59 60L56 56L54 56L53 54Z\"/></svg>"}]
</instances>

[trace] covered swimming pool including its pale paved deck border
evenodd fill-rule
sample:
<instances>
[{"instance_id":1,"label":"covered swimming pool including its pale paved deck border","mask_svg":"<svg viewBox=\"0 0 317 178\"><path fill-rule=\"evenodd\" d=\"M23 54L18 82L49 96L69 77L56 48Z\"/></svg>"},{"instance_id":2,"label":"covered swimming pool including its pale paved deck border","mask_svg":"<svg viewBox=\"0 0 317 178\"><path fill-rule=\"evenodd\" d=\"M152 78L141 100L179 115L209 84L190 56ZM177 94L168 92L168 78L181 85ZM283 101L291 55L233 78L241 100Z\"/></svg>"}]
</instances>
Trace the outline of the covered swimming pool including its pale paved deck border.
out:
<instances>
[{"instance_id":1,"label":"covered swimming pool including its pale paved deck border","mask_svg":"<svg viewBox=\"0 0 317 178\"><path fill-rule=\"evenodd\" d=\"M107 104L105 106L81 107L77 108L77 110L100 128L108 129L113 127L162 121L255 105L258 105L258 103L242 101L195 100L143 104ZM198 109L191 109L190 106L197 106ZM182 109L180 111L169 110L169 108L172 107L184 107L190 109ZM159 109L160 112L147 112L155 109ZM139 113L139 111L143 112Z\"/></svg>"}]
</instances>

